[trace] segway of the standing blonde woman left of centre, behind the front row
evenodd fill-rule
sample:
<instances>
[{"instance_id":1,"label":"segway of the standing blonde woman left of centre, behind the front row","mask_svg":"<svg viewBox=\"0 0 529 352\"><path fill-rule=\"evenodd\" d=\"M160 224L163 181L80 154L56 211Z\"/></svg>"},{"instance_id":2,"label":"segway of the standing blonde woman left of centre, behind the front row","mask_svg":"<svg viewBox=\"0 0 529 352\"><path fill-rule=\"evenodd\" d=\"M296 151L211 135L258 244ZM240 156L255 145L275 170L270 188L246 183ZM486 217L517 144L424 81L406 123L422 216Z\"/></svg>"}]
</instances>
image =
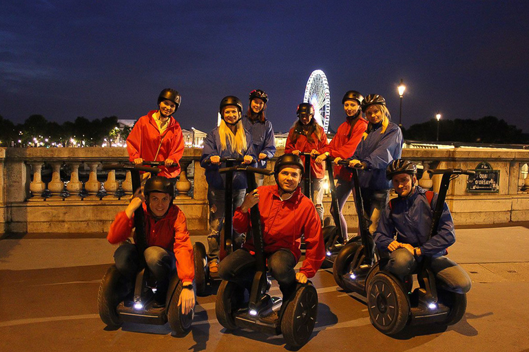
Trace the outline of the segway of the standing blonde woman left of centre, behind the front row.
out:
<instances>
[{"instance_id":1,"label":"segway of the standing blonde woman left of centre, behind the front row","mask_svg":"<svg viewBox=\"0 0 529 352\"><path fill-rule=\"evenodd\" d=\"M220 162L226 163L226 168L231 168L236 164L242 164L244 159L236 157L221 157ZM219 261L225 258L229 253L233 251L234 247L234 226L232 225L233 217L233 179L234 172L228 171L226 173L226 184L225 184L225 205L224 205L224 230L220 232L219 243ZM210 274L209 266L207 263L207 252L206 247L201 242L196 242L193 245L193 252L195 257L195 286L196 294L203 296L207 292L208 284L214 285L215 282L220 281L218 274Z\"/></svg>"}]
</instances>

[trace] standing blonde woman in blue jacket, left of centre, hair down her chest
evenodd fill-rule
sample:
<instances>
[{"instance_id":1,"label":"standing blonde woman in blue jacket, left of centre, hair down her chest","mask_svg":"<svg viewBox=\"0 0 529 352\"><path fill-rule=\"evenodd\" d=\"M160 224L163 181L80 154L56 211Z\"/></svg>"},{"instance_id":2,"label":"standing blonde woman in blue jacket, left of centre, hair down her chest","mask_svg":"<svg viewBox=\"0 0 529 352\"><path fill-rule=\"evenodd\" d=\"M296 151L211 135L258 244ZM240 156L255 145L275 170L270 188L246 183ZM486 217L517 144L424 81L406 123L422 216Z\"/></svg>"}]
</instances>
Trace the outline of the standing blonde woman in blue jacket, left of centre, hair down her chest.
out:
<instances>
[{"instance_id":1,"label":"standing blonde woman in blue jacket, left of centre, hair down her chest","mask_svg":"<svg viewBox=\"0 0 529 352\"><path fill-rule=\"evenodd\" d=\"M207 199L209 202L209 234L207 236L210 274L218 273L219 234L225 216L225 175L218 172L225 167L221 157L243 158L245 164L254 164L257 155L253 151L251 135L242 126L242 102L236 96L226 96L220 101L219 126L207 133L200 166L206 169ZM240 206L245 197L247 181L245 173L234 173L233 205Z\"/></svg>"}]
</instances>

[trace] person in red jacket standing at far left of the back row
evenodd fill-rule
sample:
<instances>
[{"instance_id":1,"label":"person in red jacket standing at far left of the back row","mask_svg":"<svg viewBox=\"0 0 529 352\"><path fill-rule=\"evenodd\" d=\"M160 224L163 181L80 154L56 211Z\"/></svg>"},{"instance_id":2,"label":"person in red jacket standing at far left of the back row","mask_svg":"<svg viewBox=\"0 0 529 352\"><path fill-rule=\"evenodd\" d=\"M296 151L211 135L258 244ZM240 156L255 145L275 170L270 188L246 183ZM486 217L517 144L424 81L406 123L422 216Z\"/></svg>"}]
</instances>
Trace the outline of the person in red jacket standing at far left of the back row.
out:
<instances>
[{"instance_id":1,"label":"person in red jacket standing at far left of the back row","mask_svg":"<svg viewBox=\"0 0 529 352\"><path fill-rule=\"evenodd\" d=\"M184 154L184 136L180 124L172 117L182 98L178 91L166 88L158 96L158 110L152 110L136 121L127 137L127 152L134 164L164 162L158 176L180 175L180 158Z\"/></svg>"}]
</instances>

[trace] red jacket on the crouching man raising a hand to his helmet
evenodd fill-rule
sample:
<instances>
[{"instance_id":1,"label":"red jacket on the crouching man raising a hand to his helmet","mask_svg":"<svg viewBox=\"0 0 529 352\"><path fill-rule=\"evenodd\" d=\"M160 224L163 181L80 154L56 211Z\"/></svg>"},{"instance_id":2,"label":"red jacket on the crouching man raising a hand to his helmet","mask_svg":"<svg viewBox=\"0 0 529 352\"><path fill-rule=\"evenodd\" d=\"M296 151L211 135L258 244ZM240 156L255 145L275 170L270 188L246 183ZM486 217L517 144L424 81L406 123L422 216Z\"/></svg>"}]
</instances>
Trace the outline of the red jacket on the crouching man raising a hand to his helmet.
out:
<instances>
[{"instance_id":1,"label":"red jacket on the crouching man raising a hand to his helmet","mask_svg":"<svg viewBox=\"0 0 529 352\"><path fill-rule=\"evenodd\" d=\"M169 252L172 250L180 280L193 281L195 262L184 212L172 204L165 217L155 222L151 213L147 211L147 205L143 203L143 214L147 246L156 245ZM118 212L116 219L110 225L107 240L112 244L123 242L129 238L132 228L134 228L134 214L132 219L129 219L124 211Z\"/></svg>"}]
</instances>

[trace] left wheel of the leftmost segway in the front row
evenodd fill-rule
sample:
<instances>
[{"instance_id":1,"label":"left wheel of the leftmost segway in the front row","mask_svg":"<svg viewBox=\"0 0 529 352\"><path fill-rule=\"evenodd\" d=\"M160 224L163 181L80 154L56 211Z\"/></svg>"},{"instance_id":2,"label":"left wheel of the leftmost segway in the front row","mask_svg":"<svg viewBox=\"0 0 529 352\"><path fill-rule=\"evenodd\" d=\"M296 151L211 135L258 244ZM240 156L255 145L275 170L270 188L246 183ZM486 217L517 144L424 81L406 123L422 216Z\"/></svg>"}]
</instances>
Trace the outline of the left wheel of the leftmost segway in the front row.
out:
<instances>
[{"instance_id":1,"label":"left wheel of the leftmost segway in the front row","mask_svg":"<svg viewBox=\"0 0 529 352\"><path fill-rule=\"evenodd\" d=\"M123 294L124 284L123 276L118 272L116 265L108 268L107 273L103 276L97 293L97 308L101 320L110 328L116 329L121 327L121 318L116 311L116 307L125 297Z\"/></svg>"}]
</instances>

